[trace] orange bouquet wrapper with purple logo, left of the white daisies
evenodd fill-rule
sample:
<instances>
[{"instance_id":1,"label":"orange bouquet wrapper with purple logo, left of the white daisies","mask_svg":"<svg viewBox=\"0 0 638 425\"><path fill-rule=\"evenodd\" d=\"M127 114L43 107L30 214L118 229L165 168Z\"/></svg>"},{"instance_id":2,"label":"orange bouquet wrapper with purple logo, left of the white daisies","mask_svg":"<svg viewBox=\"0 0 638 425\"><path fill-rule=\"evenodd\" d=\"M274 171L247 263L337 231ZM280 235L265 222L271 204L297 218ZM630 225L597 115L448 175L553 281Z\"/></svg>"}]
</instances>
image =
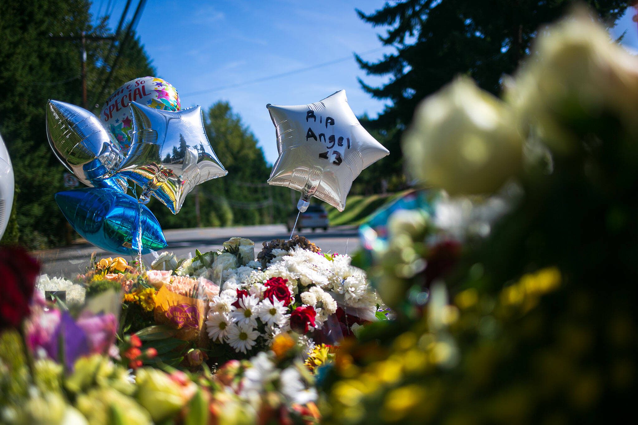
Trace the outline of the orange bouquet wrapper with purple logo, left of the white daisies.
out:
<instances>
[{"instance_id":1,"label":"orange bouquet wrapper with purple logo, left of the white daisies","mask_svg":"<svg viewBox=\"0 0 638 425\"><path fill-rule=\"evenodd\" d=\"M155 322L178 329L175 338L195 342L200 348L205 348L209 342L204 323L207 310L203 299L175 294L166 286L159 289L155 298Z\"/></svg>"}]
</instances>

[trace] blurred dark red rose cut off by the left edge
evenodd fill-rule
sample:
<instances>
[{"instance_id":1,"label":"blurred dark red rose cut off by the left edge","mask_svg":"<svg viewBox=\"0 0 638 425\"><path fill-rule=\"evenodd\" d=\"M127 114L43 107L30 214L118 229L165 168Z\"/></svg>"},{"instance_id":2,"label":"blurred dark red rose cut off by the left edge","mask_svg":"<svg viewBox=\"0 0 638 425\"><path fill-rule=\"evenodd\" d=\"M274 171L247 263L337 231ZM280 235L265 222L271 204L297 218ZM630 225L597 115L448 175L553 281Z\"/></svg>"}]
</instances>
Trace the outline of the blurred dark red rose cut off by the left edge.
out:
<instances>
[{"instance_id":1,"label":"blurred dark red rose cut off by the left edge","mask_svg":"<svg viewBox=\"0 0 638 425\"><path fill-rule=\"evenodd\" d=\"M17 328L29 315L40 263L22 248L0 249L0 330Z\"/></svg>"}]
</instances>

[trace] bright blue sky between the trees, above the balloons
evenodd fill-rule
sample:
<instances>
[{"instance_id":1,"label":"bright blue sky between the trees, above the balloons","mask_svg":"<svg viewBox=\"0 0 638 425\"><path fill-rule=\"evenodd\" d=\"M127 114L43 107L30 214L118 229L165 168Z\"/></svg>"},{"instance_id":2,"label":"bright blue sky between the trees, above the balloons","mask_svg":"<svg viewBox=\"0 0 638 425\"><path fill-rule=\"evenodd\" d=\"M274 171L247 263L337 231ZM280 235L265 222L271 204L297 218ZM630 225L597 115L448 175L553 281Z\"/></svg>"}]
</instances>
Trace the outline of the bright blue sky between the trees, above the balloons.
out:
<instances>
[{"instance_id":1,"label":"bright blue sky between the trees, above the balloons","mask_svg":"<svg viewBox=\"0 0 638 425\"><path fill-rule=\"evenodd\" d=\"M91 11L94 16L104 15L110 4L115 28L125 3L94 0ZM131 3L129 18L137 1ZM157 76L177 88L182 106L208 108L220 99L229 101L272 163L277 147L267 103L312 103L345 89L356 115L375 117L383 110L383 101L366 94L357 77L372 85L384 79L366 76L352 56L357 52L374 61L392 51L382 48L377 39L376 34L384 30L365 24L355 13L355 8L369 13L383 3L385 0L148 1L137 32L158 69ZM627 29L627 47L638 50L632 15L633 10L625 14L614 34ZM338 62L317 66L331 61ZM311 67L315 68L249 83ZM131 79L138 76L131 75Z\"/></svg>"}]
</instances>

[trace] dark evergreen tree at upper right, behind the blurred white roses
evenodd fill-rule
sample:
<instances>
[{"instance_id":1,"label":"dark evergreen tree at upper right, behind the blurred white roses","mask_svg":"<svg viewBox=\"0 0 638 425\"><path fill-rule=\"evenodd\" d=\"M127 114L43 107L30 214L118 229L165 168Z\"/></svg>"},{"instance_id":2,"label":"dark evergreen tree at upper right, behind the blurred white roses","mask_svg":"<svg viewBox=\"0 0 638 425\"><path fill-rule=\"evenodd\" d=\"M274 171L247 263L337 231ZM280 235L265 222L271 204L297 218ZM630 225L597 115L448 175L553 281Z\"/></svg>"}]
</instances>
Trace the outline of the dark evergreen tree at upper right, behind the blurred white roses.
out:
<instances>
[{"instance_id":1,"label":"dark evergreen tree at upper right, behind the blurred white roses","mask_svg":"<svg viewBox=\"0 0 638 425\"><path fill-rule=\"evenodd\" d=\"M400 175L401 132L412 121L421 99L456 75L471 76L482 89L500 92L503 75L511 74L530 53L538 27L553 22L577 3L571 0L394 0L373 13L357 10L373 27L386 27L379 40L396 48L377 62L358 55L359 66L368 75L389 76L389 82L372 87L359 79L363 89L376 99L389 100L367 128L385 131L380 141L390 150L383 176ZM623 0L588 0L602 22L612 26L628 7ZM397 130L397 131L395 131ZM379 178L379 176L377 177Z\"/></svg>"}]
</instances>

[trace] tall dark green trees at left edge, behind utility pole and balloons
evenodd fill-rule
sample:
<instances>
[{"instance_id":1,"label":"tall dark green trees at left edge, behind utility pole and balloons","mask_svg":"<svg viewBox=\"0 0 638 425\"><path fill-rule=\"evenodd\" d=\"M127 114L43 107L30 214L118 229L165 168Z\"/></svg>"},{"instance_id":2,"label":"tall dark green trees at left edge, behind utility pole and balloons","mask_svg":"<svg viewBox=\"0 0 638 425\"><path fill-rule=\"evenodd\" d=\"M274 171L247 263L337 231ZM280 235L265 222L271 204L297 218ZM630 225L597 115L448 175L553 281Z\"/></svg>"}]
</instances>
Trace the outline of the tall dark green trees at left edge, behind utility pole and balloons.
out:
<instances>
[{"instance_id":1,"label":"tall dark green trees at left edge, behind utility pole and balloons","mask_svg":"<svg viewBox=\"0 0 638 425\"><path fill-rule=\"evenodd\" d=\"M105 35L107 30L91 24L86 0L0 3L0 133L15 173L19 242L31 249L60 243L66 229L53 198L64 189L65 169L47 142L45 105L48 99L82 104L80 41L54 40L49 34ZM89 103L103 85L109 45L87 42ZM130 40L122 55L100 103L121 83L155 72L139 40Z\"/></svg>"}]
</instances>

